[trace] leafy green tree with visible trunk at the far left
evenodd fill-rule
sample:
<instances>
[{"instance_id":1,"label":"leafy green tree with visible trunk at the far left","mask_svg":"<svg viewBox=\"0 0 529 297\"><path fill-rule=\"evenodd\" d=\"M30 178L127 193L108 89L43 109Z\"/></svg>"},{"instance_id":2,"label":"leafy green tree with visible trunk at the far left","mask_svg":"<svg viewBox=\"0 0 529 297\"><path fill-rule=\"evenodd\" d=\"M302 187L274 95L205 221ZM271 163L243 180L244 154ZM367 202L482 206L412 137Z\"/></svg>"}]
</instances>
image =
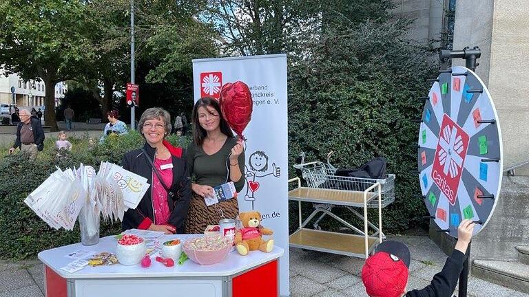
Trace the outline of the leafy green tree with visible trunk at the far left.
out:
<instances>
[{"instance_id":1,"label":"leafy green tree with visible trunk at the far left","mask_svg":"<svg viewBox=\"0 0 529 297\"><path fill-rule=\"evenodd\" d=\"M85 3L80 0L3 0L0 2L0 64L7 74L45 84L46 124L57 129L56 83L76 78L92 58Z\"/></svg>"}]
</instances>

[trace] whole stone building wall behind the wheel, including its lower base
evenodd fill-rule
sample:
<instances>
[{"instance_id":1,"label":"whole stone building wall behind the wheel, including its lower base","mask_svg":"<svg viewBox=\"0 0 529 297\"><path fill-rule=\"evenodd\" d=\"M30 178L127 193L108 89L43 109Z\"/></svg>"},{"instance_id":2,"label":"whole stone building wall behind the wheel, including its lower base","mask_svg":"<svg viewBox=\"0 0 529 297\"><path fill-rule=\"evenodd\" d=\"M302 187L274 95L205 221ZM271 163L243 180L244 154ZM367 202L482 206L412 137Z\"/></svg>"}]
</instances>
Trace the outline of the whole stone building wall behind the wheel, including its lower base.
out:
<instances>
[{"instance_id":1,"label":"whole stone building wall behind the wheel, including its lower base","mask_svg":"<svg viewBox=\"0 0 529 297\"><path fill-rule=\"evenodd\" d=\"M454 50L479 46L477 75L495 103L504 146L504 168L529 160L529 12L528 0L458 0ZM453 65L465 65L453 60ZM486 228L473 239L472 259L516 260L516 245L529 234L529 166L517 177L504 176L499 200ZM486 219L486 218L480 218ZM455 243L435 232L445 252Z\"/></svg>"}]
</instances>

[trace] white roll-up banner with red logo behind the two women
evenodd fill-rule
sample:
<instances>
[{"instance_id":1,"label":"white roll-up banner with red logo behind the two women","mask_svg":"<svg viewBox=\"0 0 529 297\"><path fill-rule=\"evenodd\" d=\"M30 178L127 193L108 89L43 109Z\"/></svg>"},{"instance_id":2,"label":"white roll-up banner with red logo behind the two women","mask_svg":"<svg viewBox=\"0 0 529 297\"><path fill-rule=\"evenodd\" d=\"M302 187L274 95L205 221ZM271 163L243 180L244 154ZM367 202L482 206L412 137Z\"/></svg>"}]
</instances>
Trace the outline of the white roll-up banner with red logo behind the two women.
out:
<instances>
[{"instance_id":1,"label":"white roll-up banner with red logo behind the two women","mask_svg":"<svg viewBox=\"0 0 529 297\"><path fill-rule=\"evenodd\" d=\"M240 211L258 210L273 230L280 259L280 295L289 296L287 55L193 60L195 101L218 98L220 87L240 80L253 98L247 138L247 184L238 195Z\"/></svg>"}]
</instances>

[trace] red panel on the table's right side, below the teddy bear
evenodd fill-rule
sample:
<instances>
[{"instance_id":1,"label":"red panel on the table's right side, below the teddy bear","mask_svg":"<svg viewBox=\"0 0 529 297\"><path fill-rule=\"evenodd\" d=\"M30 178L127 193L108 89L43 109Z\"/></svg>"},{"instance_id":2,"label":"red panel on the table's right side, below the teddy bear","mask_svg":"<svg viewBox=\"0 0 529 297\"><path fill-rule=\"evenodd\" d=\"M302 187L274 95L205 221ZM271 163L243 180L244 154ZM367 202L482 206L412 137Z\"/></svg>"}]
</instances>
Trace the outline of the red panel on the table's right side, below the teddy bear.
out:
<instances>
[{"instance_id":1,"label":"red panel on the table's right side, below the teddy bear","mask_svg":"<svg viewBox=\"0 0 529 297\"><path fill-rule=\"evenodd\" d=\"M232 280L233 297L278 296L278 261L249 270Z\"/></svg>"}]
</instances>

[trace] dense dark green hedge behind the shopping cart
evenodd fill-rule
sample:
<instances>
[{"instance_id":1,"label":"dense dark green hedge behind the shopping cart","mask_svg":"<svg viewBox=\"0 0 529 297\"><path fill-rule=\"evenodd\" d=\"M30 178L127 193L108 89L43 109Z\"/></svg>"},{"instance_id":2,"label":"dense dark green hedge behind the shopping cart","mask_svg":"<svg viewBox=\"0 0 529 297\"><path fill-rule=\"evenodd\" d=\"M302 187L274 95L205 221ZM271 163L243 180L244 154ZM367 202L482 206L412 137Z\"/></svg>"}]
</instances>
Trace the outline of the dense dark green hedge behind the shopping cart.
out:
<instances>
[{"instance_id":1,"label":"dense dark green hedge behind the shopping cart","mask_svg":"<svg viewBox=\"0 0 529 297\"><path fill-rule=\"evenodd\" d=\"M421 116L417 98L428 94L425 79L435 76L435 64L404 40L407 25L368 21L328 30L289 68L289 161L301 151L311 160L332 150L335 166L357 168L386 157L387 172L397 175L395 203L384 212L391 230L422 223L417 218L426 212L412 198L419 192L412 173L419 126L411 119Z\"/></svg>"}]
</instances>

